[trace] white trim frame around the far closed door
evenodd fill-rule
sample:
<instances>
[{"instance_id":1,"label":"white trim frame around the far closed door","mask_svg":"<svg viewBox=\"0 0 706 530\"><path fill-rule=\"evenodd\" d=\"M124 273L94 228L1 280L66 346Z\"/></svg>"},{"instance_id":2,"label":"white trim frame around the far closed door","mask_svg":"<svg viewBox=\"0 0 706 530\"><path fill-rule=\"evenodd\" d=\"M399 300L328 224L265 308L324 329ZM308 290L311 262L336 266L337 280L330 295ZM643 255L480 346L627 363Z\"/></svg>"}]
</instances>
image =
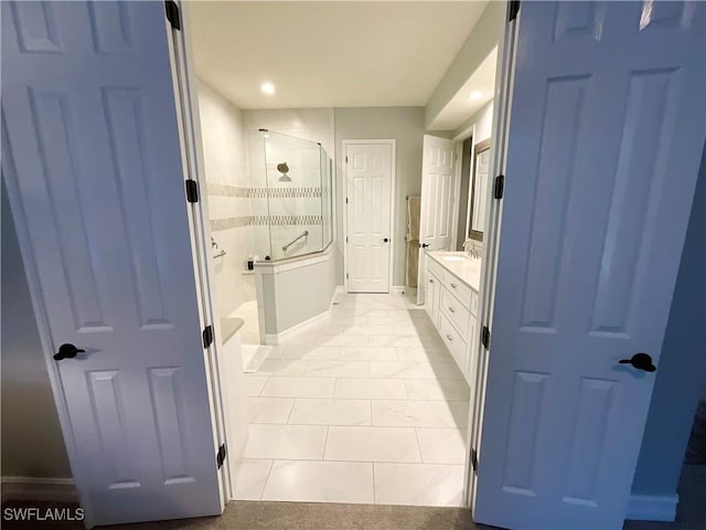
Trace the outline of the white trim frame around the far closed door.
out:
<instances>
[{"instance_id":1,"label":"white trim frame around the far closed door","mask_svg":"<svg viewBox=\"0 0 706 530\"><path fill-rule=\"evenodd\" d=\"M347 197L349 197L349 166L345 161L347 147L356 146L356 145L387 145L392 149L392 159L391 159L391 188L389 188L389 263L388 266L388 282L387 282L387 294L392 294L393 292L393 273L394 273L394 264L395 264L395 193L397 192L397 182L396 182L396 166L397 166L397 140L388 138L388 139L344 139L341 140L341 166L342 166L342 191L341 193L341 212L343 212L343 288L345 293L349 293L349 206L347 206Z\"/></svg>"}]
</instances>

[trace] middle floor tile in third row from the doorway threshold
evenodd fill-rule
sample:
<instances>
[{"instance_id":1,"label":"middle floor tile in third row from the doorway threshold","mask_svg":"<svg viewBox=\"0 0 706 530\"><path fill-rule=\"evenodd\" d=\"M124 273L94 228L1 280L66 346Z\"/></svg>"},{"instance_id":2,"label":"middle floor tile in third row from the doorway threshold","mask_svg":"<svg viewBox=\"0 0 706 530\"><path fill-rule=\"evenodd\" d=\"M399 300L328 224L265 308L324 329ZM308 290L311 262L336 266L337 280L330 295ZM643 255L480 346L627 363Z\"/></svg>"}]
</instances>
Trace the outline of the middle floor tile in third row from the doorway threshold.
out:
<instances>
[{"instance_id":1,"label":"middle floor tile in third row from the doorway threshold","mask_svg":"<svg viewBox=\"0 0 706 530\"><path fill-rule=\"evenodd\" d=\"M370 400L298 399L289 416L290 424L370 425Z\"/></svg>"}]
</instances>

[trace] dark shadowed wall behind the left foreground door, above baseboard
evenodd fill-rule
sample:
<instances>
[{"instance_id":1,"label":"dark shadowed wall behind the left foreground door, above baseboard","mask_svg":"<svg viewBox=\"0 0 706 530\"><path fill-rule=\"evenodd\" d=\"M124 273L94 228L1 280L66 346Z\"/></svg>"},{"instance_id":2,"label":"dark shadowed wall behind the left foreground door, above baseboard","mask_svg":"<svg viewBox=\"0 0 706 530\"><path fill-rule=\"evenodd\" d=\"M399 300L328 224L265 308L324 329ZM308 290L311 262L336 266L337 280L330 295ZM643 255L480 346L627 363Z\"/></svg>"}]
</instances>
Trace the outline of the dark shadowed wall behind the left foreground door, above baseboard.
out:
<instances>
[{"instance_id":1,"label":"dark shadowed wall behind the left foreground door, above baseboard","mask_svg":"<svg viewBox=\"0 0 706 530\"><path fill-rule=\"evenodd\" d=\"M2 476L69 478L30 288L2 181Z\"/></svg>"}]
</instances>

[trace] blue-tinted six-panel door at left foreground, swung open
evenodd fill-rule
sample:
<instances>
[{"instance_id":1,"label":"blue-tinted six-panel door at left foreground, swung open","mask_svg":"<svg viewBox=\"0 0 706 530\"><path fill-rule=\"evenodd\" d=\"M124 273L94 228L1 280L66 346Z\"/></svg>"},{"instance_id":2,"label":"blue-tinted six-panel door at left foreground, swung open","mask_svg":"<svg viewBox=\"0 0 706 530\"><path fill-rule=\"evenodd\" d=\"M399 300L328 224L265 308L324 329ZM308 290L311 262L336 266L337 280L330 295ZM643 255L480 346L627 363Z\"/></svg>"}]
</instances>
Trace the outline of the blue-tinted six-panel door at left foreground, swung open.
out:
<instances>
[{"instance_id":1,"label":"blue-tinted six-panel door at left foreground, swung open","mask_svg":"<svg viewBox=\"0 0 706 530\"><path fill-rule=\"evenodd\" d=\"M2 2L2 171L88 522L221 512L163 2ZM65 346L63 352L71 353Z\"/></svg>"}]
</instances>

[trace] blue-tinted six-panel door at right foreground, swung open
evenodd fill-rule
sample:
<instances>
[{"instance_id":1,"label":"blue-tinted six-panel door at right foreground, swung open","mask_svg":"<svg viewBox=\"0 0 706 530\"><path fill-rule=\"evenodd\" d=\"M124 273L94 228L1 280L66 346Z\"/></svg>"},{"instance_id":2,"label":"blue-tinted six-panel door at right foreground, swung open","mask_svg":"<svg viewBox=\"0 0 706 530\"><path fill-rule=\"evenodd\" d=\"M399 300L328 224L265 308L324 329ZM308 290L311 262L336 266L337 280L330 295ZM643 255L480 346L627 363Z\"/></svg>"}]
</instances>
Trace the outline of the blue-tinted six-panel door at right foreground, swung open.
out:
<instances>
[{"instance_id":1,"label":"blue-tinted six-panel door at right foreground, swung open","mask_svg":"<svg viewBox=\"0 0 706 530\"><path fill-rule=\"evenodd\" d=\"M477 522L620 529L706 131L700 2L523 2ZM642 368L650 368L644 365Z\"/></svg>"}]
</instances>

